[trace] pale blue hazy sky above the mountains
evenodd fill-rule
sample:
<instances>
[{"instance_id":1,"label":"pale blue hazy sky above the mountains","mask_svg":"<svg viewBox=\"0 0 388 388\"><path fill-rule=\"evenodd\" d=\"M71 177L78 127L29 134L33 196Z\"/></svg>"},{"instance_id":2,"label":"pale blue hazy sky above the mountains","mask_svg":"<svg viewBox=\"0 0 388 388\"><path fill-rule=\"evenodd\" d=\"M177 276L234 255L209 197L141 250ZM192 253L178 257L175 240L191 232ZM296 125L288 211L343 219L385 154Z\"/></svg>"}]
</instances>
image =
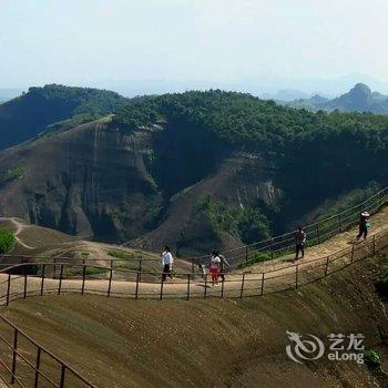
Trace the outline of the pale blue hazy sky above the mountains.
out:
<instances>
[{"instance_id":1,"label":"pale blue hazy sky above the mountains","mask_svg":"<svg viewBox=\"0 0 388 388\"><path fill-rule=\"evenodd\" d=\"M0 88L388 92L387 21L386 0L0 0Z\"/></svg>"}]
</instances>

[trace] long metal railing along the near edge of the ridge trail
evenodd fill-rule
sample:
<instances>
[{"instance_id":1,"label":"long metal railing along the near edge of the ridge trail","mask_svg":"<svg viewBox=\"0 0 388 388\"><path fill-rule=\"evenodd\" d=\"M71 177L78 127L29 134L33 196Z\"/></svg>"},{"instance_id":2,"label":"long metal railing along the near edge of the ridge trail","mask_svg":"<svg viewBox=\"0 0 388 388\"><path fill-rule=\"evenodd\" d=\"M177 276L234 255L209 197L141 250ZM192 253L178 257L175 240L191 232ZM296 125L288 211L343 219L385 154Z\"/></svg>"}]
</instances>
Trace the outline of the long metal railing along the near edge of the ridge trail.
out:
<instances>
[{"instance_id":1,"label":"long metal railing along the near edge of the ridge trail","mask_svg":"<svg viewBox=\"0 0 388 388\"><path fill-rule=\"evenodd\" d=\"M354 244L345 249L313 261L299 261L286 267L267 272L242 270L226 274L217 279L218 287L211 287L211 274L175 273L175 279L163 279L162 272L114 269L94 265L76 265L80 275L67 275L74 265L68 263L41 263L39 272L29 275L31 263L19 264L0 272L0 304L9 305L18 298L35 295L102 295L125 298L207 298L262 296L268 293L298 288L302 285L323 278L349 264L388 246L388 229ZM57 267L57 276L53 267ZM19 274L14 274L18 269ZM101 273L104 272L104 274ZM166 275L166 274L165 274Z\"/></svg>"}]
</instances>

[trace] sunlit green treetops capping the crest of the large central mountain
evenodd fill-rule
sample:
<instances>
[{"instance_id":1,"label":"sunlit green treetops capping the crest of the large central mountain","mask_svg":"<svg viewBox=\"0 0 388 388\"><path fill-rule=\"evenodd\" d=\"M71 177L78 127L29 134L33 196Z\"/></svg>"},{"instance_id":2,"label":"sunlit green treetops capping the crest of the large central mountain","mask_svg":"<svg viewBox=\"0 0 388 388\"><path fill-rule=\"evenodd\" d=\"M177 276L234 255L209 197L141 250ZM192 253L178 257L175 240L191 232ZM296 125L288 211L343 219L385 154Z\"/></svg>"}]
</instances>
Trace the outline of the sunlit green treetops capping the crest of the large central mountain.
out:
<instances>
[{"instance_id":1,"label":"sunlit green treetops capping the crest of the large central mountain","mask_svg":"<svg viewBox=\"0 0 388 388\"><path fill-rule=\"evenodd\" d=\"M369 113L313 113L249 94L208 91L134 99L115 116L133 129L155 123L202 127L247 151L283 151L300 143L347 142L387 151L388 118Z\"/></svg>"}]
</instances>

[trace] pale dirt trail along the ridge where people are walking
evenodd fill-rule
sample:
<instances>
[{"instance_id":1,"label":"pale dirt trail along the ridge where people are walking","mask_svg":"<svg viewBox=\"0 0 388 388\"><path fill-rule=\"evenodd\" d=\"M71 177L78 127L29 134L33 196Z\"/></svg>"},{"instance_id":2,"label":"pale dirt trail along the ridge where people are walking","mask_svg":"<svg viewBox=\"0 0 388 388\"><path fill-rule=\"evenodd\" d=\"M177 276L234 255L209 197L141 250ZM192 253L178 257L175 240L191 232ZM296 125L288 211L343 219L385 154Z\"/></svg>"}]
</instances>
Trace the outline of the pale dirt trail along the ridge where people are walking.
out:
<instances>
[{"instance_id":1,"label":"pale dirt trail along the ridge where people are walking","mask_svg":"<svg viewBox=\"0 0 388 388\"><path fill-rule=\"evenodd\" d=\"M17 224L17 223L16 223ZM388 227L388 207L376 214L371 218L371 234L378 233ZM356 229L344 232L327 242L308 248L305 258L299 261L299 264L307 264L306 272L308 272L308 263L317 258L325 258L327 255L335 254L346 247L351 246L355 242ZM359 243L363 244L363 243ZM210 287L210 283L201 278L191 280L190 285L187 279L177 278L176 280L169 280L163 284L163 297L184 298L190 293L190 296L204 297L206 296L221 296L236 297L241 296L241 289L244 287L244 295L258 295L262 286L262 273L269 270L277 270L274 274L267 274L266 280L269 280L269 288L282 289L279 286L289 284L289 279L295 274L295 265L293 264L293 255L279 257L272 262L255 264L248 268L236 270L227 274L226 280L223 287ZM310 266L312 267L312 266ZM242 273L247 273L245 276L245 284L242 285ZM282 276L275 278L275 276ZM4 302L4 295L7 293L7 279L8 275L0 274L0 304ZM20 276L12 276L11 294L21 295L23 293L23 278ZM282 283L283 282L283 283ZM28 278L28 292L31 294L39 294L41 292L42 282L39 277ZM62 290L82 293L84 287L85 293L106 295L109 289L109 280L101 278L86 278L84 286L82 286L82 279L63 279L61 284ZM59 288L59 280L47 278L44 279L43 292L57 293ZM139 294L139 297L153 297L159 298L161 294L161 283L147 283L141 282L136 290L135 274L133 274L133 280L113 280L111 286L112 296L134 297ZM266 290L268 286L266 284Z\"/></svg>"}]
</instances>

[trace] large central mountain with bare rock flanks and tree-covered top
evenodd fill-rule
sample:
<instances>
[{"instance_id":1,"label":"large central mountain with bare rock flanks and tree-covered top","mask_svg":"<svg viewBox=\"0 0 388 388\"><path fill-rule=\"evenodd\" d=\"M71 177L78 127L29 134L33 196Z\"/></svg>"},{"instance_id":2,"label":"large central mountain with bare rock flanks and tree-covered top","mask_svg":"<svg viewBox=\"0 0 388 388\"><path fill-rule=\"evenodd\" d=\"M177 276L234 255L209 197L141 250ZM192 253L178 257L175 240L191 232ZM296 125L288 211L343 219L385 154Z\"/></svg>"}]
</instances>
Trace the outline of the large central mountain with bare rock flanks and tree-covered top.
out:
<instances>
[{"instance_id":1,"label":"large central mountain with bare rock flanks and tree-covered top","mask_svg":"<svg viewBox=\"0 0 388 388\"><path fill-rule=\"evenodd\" d=\"M386 185L387 149L385 115L313 113L222 91L144 96L109 119L0 153L8 176L0 213L205 253L283 232Z\"/></svg>"}]
</instances>

